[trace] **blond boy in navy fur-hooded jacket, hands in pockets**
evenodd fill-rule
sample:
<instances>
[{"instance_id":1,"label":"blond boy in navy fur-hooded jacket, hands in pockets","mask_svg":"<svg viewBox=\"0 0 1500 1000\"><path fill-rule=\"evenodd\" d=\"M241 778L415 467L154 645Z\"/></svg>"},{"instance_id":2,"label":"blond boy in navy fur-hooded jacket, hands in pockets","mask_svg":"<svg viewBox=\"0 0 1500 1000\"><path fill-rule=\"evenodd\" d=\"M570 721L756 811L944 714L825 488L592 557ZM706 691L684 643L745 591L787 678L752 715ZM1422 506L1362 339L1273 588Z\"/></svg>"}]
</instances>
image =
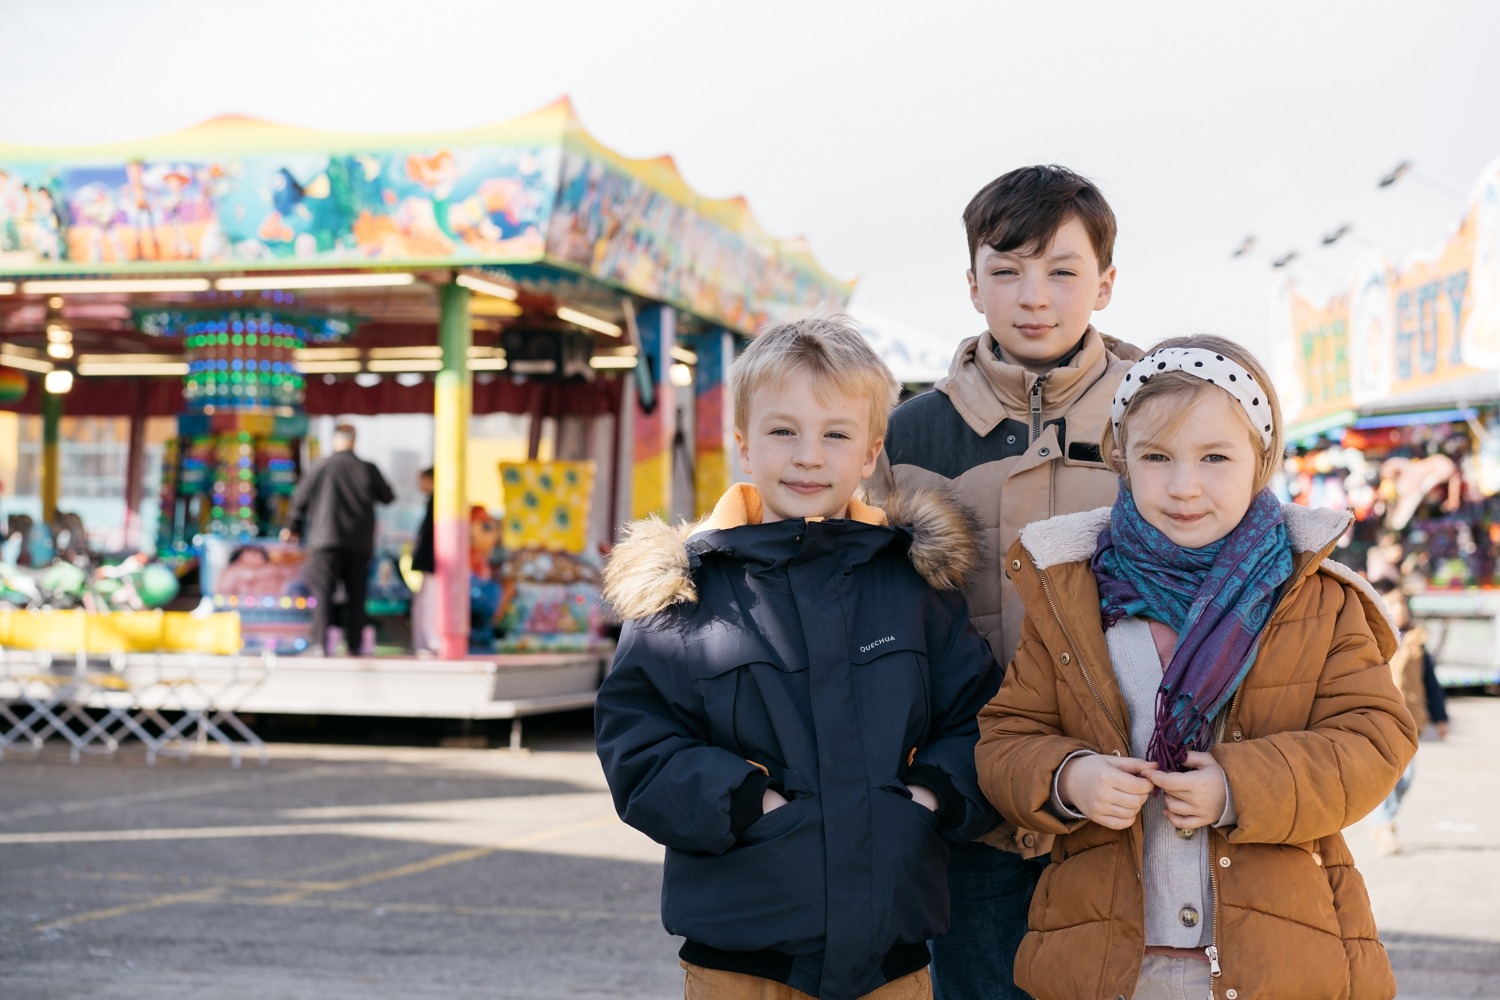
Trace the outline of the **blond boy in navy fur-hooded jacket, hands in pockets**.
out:
<instances>
[{"instance_id":1,"label":"blond boy in navy fur-hooded jacket, hands in pockets","mask_svg":"<svg viewBox=\"0 0 1500 1000\"><path fill-rule=\"evenodd\" d=\"M696 525L628 526L604 570L615 808L668 849L686 996L930 997L948 844L999 822L974 765L999 687L962 597L976 528L938 493L854 499L898 390L842 318L762 333L732 378L752 483Z\"/></svg>"}]
</instances>

